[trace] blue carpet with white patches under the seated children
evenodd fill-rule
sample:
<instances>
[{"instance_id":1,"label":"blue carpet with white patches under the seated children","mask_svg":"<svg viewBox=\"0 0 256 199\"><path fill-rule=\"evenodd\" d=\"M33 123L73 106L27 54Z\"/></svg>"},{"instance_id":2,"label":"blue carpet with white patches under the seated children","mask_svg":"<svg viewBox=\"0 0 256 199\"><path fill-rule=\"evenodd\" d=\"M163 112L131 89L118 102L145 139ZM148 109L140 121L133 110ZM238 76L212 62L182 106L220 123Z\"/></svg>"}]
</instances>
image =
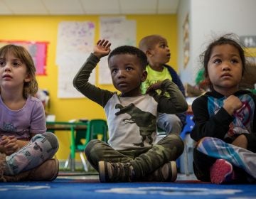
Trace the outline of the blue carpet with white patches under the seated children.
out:
<instances>
[{"instance_id":1,"label":"blue carpet with white patches under the seated children","mask_svg":"<svg viewBox=\"0 0 256 199\"><path fill-rule=\"evenodd\" d=\"M176 183L99 183L97 180L56 179L53 182L0 183L0 198L256 198L256 185Z\"/></svg>"}]
</instances>

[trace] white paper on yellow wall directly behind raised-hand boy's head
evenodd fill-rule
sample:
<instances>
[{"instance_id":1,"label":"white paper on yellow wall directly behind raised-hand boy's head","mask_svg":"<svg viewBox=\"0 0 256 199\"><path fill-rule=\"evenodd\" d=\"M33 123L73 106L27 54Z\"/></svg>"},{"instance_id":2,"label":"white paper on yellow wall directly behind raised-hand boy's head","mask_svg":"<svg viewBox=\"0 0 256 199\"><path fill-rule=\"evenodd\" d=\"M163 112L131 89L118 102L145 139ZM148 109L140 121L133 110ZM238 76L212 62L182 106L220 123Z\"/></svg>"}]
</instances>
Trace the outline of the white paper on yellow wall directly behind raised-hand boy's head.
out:
<instances>
[{"instance_id":1,"label":"white paper on yellow wall directly behind raised-hand boy's head","mask_svg":"<svg viewBox=\"0 0 256 199\"><path fill-rule=\"evenodd\" d=\"M124 16L101 17L100 38L111 41L111 49L119 45L136 45L136 21L127 20ZM110 70L107 66L107 57L100 60L99 83L112 84Z\"/></svg>"}]
</instances>

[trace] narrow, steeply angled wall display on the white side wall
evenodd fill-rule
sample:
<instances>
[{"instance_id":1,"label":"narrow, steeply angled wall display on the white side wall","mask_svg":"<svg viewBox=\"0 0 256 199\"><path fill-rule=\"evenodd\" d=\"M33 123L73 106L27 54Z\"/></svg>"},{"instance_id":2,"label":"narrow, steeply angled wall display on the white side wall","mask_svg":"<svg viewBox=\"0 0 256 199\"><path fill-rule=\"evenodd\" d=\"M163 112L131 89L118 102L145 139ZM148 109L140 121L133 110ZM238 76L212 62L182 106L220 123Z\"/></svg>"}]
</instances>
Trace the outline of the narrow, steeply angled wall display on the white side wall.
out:
<instances>
[{"instance_id":1,"label":"narrow, steeply angled wall display on the white side wall","mask_svg":"<svg viewBox=\"0 0 256 199\"><path fill-rule=\"evenodd\" d=\"M183 23L183 68L186 68L189 60L189 21L188 14Z\"/></svg>"}]
</instances>

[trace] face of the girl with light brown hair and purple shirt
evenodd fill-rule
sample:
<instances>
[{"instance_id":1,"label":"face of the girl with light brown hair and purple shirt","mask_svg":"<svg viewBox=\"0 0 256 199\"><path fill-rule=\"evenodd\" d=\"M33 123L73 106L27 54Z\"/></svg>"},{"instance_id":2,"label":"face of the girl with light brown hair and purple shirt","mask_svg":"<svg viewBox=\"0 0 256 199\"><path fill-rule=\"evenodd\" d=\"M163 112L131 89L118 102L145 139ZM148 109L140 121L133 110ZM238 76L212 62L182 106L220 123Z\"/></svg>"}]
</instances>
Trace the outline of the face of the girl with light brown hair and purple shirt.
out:
<instances>
[{"instance_id":1,"label":"face of the girl with light brown hair and purple shirt","mask_svg":"<svg viewBox=\"0 0 256 199\"><path fill-rule=\"evenodd\" d=\"M5 58L3 56L0 57L1 88L21 87L23 89L23 83L30 80L26 65L16 58L13 53L8 53Z\"/></svg>"}]
</instances>

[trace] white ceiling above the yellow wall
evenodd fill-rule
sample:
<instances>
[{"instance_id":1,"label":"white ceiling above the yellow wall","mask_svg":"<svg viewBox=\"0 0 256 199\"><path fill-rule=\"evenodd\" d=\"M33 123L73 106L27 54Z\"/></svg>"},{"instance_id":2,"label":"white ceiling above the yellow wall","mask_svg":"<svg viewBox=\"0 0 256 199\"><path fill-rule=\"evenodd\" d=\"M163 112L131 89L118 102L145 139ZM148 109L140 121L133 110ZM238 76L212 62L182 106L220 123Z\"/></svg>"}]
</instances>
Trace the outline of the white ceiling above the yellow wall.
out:
<instances>
[{"instance_id":1,"label":"white ceiling above the yellow wall","mask_svg":"<svg viewBox=\"0 0 256 199\"><path fill-rule=\"evenodd\" d=\"M0 15L176 14L179 0L0 0Z\"/></svg>"}]
</instances>

